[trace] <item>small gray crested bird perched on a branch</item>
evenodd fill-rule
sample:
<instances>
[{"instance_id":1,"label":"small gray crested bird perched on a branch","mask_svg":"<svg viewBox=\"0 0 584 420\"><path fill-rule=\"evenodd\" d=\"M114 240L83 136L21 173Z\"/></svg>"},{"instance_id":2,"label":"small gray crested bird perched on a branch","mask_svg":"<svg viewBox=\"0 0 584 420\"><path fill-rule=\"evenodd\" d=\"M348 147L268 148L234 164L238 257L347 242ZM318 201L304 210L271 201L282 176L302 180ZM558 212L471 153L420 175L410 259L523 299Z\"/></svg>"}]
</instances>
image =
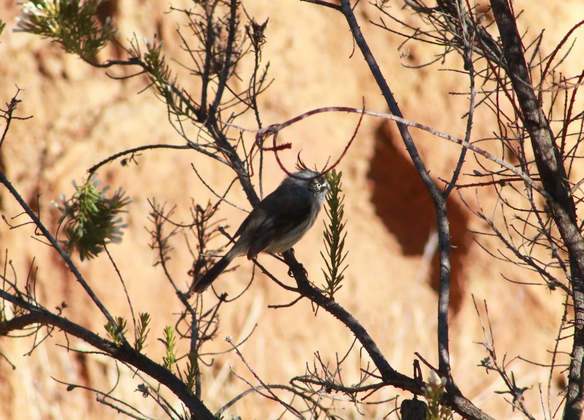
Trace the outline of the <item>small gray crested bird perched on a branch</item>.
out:
<instances>
[{"instance_id":1,"label":"small gray crested bird perched on a branch","mask_svg":"<svg viewBox=\"0 0 584 420\"><path fill-rule=\"evenodd\" d=\"M241 223L233 247L198 281L191 292L201 293L239 255L248 260L260 252L283 253L296 244L312 227L331 187L325 177L308 169L301 161L298 171L284 178Z\"/></svg>"}]
</instances>

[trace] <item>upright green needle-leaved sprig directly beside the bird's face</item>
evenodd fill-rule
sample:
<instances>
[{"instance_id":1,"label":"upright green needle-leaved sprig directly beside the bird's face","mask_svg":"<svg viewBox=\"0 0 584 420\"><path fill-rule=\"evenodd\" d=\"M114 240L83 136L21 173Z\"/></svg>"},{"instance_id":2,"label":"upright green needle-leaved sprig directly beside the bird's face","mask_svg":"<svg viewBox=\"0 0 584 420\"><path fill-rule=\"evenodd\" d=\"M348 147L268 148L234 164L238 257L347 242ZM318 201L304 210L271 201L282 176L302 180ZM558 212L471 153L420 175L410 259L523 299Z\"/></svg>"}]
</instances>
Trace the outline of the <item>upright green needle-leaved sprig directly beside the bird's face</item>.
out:
<instances>
[{"instance_id":1,"label":"upright green needle-leaved sprig directly beside the bird's face","mask_svg":"<svg viewBox=\"0 0 584 420\"><path fill-rule=\"evenodd\" d=\"M343 253L346 237L346 233L343 233L345 227L345 223L343 223L343 197L339 196L342 174L342 172L336 173L335 169L326 174L326 180L331 185L331 194L326 198L328 206L325 209L329 218L329 223L325 222L324 230L326 255L321 251L322 259L326 264L326 270L322 269L326 280L322 291L331 299L334 299L335 292L342 288L340 282L345 278L343 272L347 268L347 265L342 267L347 256L347 253Z\"/></svg>"}]
</instances>

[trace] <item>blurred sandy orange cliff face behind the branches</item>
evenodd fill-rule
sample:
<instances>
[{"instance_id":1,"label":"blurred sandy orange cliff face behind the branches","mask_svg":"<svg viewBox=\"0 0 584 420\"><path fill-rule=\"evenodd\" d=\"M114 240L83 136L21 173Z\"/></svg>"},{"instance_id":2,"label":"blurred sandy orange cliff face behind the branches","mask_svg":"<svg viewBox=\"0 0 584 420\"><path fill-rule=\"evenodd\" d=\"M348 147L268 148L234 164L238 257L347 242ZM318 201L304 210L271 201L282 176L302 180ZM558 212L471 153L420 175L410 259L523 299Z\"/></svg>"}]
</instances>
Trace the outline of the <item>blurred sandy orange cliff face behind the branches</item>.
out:
<instances>
[{"instance_id":1,"label":"blurred sandy orange cliff face behind the branches","mask_svg":"<svg viewBox=\"0 0 584 420\"><path fill-rule=\"evenodd\" d=\"M179 4L180 3L180 4ZM189 6L183 0L175 6ZM394 12L408 21L413 17L395 2ZM346 22L339 13L296 0L249 0L245 2L250 16L258 22L269 18L267 44L263 60L270 62L269 75L274 78L270 89L260 97L263 122L272 124L305 111L324 106L360 107L362 99L367 108L387 111L377 86L359 51L354 50ZM548 2L519 0L515 9L525 9L520 26L529 29L531 38L545 29L542 51L549 54L565 33L584 16L579 0ZM112 2L112 12L122 33L122 39L136 34L152 38L158 34L165 40L164 52L169 57L186 60L178 45L176 21L165 15L166 1ZM398 46L402 38L367 24L377 19L377 11L367 2L360 2L357 17L373 53L380 61L385 78L406 118L427 124L456 136L463 136L465 120L461 119L467 103L449 92L465 90L467 76L439 72L440 63L422 69L408 69L402 63L418 65L433 59L437 53L429 46L412 44L409 57L400 57ZM123 149L150 143L181 144L179 136L169 126L165 107L150 91L137 95L144 88L144 79L114 81L103 70L88 67L84 62L65 55L58 46L47 40L23 33L13 33L19 6L3 1L0 16L8 27L0 38L0 101L9 101L16 86L22 104L19 115L33 115L32 120L15 122L0 153L0 164L9 179L27 202L36 206L48 226L55 227L58 215L51 200L64 193L71 195L72 180L81 181L86 170L96 162ZM553 17L553 19L550 19ZM396 28L401 29L401 28ZM582 51L577 42L575 50ZM103 51L103 60L116 57L114 49ZM199 82L189 72L171 64L187 90L197 92ZM249 71L243 63L241 72ZM454 63L447 63L444 68ZM562 63L566 74L577 74L584 67L583 54L572 54ZM124 75L123 70L108 71ZM129 72L129 71L128 71ZM243 84L237 86L241 88ZM243 83L243 82L241 82ZM580 103L581 106L581 103ZM581 111L580 107L580 111ZM322 166L329 156L336 159L350 139L358 117L347 114L328 114L311 117L280 134L280 140L293 143L293 150L283 153L284 162L291 167L296 154L302 150L305 162ZM251 117L239 124L255 127ZM477 115L474 124L476 138L489 136L495 128L488 113ZM4 127L4 126L2 126ZM189 128L196 135L194 127ZM425 132L414 132L420 153L434 179L449 178L458 159L457 146ZM244 134L251 145L253 136ZM230 181L223 167L204 156L185 150L155 150L144 152L138 164L126 167L109 164L99 171L99 177L112 188L123 187L133 200L126 215L128 228L124 241L111 246L113 258L127 284L135 311L152 315L151 340L147 354L161 358L164 348L155 341L165 325L176 320L179 302L165 281L161 269L152 267L155 253L148 246L150 237L148 199L176 206L175 219L187 220L191 199L205 204L213 196L197 179L194 164L208 183L221 190ZM475 164L467 159L465 171ZM396 369L412 370L413 353L419 352L430 362L436 358L436 275L428 267L423 249L433 232L433 209L425 191L406 158L404 146L391 125L366 117L359 134L345 159L339 164L343 171L345 214L347 219L346 246L350 250L346 279L336 299L352 311L377 341L381 351ZM582 171L582 169L580 169ZM271 191L282 174L269 157L265 168L265 191ZM580 176L581 177L581 176ZM40 194L40 195L39 195ZM463 191L472 201L474 191ZM244 194L235 188L230 199L249 208ZM495 197L482 193L486 205ZM20 209L4 189L0 190L1 213L12 218ZM530 280L530 273L489 257L475 243L472 230L484 230L485 225L471 215L456 195L450 202L453 244L453 296L451 317L451 356L453 374L468 398L496 418L519 418L505 396L494 394L503 385L495 375L486 375L477 364L486 356L476 344L484 340L481 324L472 295L489 306L493 334L500 357L507 361L521 355L541 364L550 363L554 337L557 335L562 311L562 296L544 288L527 288L510 283L501 274L517 281ZM244 213L224 206L220 215L233 230ZM24 222L16 218L11 223ZM311 278L320 275L322 265L322 222L298 244L296 255ZM230 230L228 229L228 230ZM487 246L496 242L482 238ZM47 246L34 239L32 227L9 230L0 228L2 263L7 258L20 282L25 282L33 267L37 296L47 307L67 303L66 315L93 330L102 329L105 319L93 309L81 286L64 268L60 258ZM175 236L170 267L180 285L190 282L187 271L192 260L183 236ZM285 268L262 257L267 267L286 278ZM92 261L79 262L79 268L96 294L113 314L127 316L127 301L116 272L100 255ZM224 275L217 281L220 290L235 295L246 284L251 264L241 259L241 269ZM211 297L209 297L211 299ZM209 351L225 351L229 345L221 340L232 335L234 341L246 337L255 324L252 338L241 351L256 373L267 383L283 383L302 375L305 365L312 364L315 352L325 360L334 361L335 352L349 349L352 335L324 311L315 316L310 304L300 302L286 309L269 309L269 304L283 304L294 299L265 276L256 276L251 290L242 299L224 308L219 339ZM99 355L67 352L62 338L49 339L31 355L30 338L9 340L0 338L0 352L15 365L0 358L0 418L3 419L98 419L123 418L110 408L96 402L95 393L77 389L68 392L61 380L89 387L117 391L144 412L162 418L161 410L152 401L135 392L141 383L123 371L118 376L116 365ZM91 350L72 340L71 347ZM343 372L347 384L357 382L359 358L353 355ZM204 373L203 399L212 411L245 389L245 384L230 372L230 365L252 379L236 355L217 356L213 368ZM515 361L510 365L520 386L526 391L527 404L533 414L543 418L538 386L547 387L549 370L545 367ZM427 375L427 370L425 370ZM51 379L51 377L55 378ZM212 378L212 379L210 379ZM253 379L252 379L253 380ZM553 407L559 403L555 395L565 384L558 371L551 378ZM384 389L377 398L391 397L394 390ZM407 397L407 395L406 395ZM363 408L366 418L381 419L391 411L393 403ZM347 408L350 410L350 408ZM279 405L258 396L244 398L227 412L242 418L277 418ZM350 412L346 413L351 417ZM106 417L107 416L107 417ZM284 418L291 418L290 414Z\"/></svg>"}]
</instances>

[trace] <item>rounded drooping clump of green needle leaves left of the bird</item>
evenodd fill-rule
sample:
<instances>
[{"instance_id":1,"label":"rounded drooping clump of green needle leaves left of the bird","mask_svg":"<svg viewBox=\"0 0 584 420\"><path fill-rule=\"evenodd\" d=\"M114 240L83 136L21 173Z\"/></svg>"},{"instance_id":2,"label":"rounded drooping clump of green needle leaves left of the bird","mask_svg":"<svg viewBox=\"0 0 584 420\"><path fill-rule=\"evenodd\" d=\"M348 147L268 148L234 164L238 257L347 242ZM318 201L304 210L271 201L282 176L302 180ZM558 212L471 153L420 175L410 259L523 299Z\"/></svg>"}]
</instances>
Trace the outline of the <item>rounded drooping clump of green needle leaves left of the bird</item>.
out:
<instances>
[{"instance_id":1,"label":"rounded drooping clump of green needle leaves left of the bird","mask_svg":"<svg viewBox=\"0 0 584 420\"><path fill-rule=\"evenodd\" d=\"M121 242L121 229L127 227L119 217L119 213L126 212L124 206L131 202L124 197L126 192L120 188L112 198L107 198L105 192L109 187L100 190L99 184L95 177L81 187L73 183L77 190L73 197L67 200L60 195L62 206L55 204L63 213L59 223L67 220L64 228L67 240L62 244L69 255L77 250L82 261L95 257L105 244Z\"/></svg>"}]
</instances>

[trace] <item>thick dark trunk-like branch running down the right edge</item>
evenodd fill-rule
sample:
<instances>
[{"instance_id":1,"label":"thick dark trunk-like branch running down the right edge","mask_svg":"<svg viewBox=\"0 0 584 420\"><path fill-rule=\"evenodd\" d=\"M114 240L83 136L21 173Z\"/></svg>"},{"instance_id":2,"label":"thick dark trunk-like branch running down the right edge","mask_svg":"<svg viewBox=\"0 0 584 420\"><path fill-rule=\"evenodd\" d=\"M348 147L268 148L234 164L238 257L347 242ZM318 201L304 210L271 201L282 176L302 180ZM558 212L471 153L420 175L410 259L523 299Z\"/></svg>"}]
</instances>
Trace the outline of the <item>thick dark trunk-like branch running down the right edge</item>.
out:
<instances>
[{"instance_id":1,"label":"thick dark trunk-like branch running down the right edge","mask_svg":"<svg viewBox=\"0 0 584 420\"><path fill-rule=\"evenodd\" d=\"M575 322L564 419L576 420L584 414L584 239L576 223L576 206L561 153L531 84L515 16L507 0L492 0L491 6L503 44L507 76L521 109L520 118L531 139L541 183L550 194L547 208L568 248Z\"/></svg>"}]
</instances>

